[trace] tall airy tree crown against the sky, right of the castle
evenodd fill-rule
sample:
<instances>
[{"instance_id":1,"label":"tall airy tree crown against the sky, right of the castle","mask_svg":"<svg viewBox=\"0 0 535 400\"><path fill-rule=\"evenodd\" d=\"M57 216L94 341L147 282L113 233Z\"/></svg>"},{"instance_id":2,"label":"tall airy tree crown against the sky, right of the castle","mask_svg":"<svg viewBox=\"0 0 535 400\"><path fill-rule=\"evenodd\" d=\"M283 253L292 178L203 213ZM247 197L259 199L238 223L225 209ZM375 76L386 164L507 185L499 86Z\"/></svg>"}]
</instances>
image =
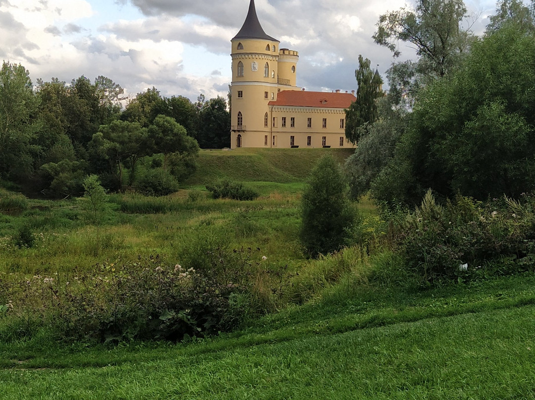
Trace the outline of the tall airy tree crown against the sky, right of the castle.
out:
<instances>
[{"instance_id":1,"label":"tall airy tree crown against the sky, right of the castle","mask_svg":"<svg viewBox=\"0 0 535 400\"><path fill-rule=\"evenodd\" d=\"M466 12L462 0L418 0L415 10L402 8L380 16L372 37L395 57L401 54L399 42L414 45L421 71L432 78L442 77L472 41L469 29L460 27Z\"/></svg>"}]
</instances>

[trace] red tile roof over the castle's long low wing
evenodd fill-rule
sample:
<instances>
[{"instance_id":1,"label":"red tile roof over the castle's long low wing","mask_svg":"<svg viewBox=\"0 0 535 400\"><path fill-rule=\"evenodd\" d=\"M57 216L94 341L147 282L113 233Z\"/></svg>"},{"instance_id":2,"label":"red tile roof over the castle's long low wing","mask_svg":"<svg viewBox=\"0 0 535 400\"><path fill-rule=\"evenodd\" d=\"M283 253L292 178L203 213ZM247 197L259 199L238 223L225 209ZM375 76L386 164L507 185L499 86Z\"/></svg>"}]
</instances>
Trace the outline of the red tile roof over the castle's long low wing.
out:
<instances>
[{"instance_id":1,"label":"red tile roof over the castle's long low wing","mask_svg":"<svg viewBox=\"0 0 535 400\"><path fill-rule=\"evenodd\" d=\"M351 93L283 90L277 94L277 101L269 102L269 105L347 109L355 100Z\"/></svg>"}]
</instances>

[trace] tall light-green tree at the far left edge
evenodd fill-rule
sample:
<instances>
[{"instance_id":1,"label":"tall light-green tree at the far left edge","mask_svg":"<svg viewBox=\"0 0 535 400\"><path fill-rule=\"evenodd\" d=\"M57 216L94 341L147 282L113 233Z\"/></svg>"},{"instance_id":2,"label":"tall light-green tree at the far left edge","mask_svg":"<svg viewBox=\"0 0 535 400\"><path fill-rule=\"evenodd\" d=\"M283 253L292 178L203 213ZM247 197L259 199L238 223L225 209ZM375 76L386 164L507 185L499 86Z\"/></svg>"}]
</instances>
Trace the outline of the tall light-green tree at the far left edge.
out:
<instances>
[{"instance_id":1,"label":"tall light-green tree at the far left edge","mask_svg":"<svg viewBox=\"0 0 535 400\"><path fill-rule=\"evenodd\" d=\"M4 62L0 69L0 176L27 176L32 171L30 145L36 131L38 100L29 72L22 65Z\"/></svg>"}]
</instances>

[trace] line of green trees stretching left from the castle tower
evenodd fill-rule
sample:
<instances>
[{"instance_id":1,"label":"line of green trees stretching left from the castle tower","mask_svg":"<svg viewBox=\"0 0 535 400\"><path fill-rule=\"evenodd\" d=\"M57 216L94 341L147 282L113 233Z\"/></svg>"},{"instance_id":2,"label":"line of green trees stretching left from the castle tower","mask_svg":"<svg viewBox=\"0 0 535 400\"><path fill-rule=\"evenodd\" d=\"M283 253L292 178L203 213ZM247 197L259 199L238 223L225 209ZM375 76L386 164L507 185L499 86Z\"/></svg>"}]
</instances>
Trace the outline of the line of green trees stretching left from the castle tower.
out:
<instances>
[{"instance_id":1,"label":"line of green trees stretching left from the castle tower","mask_svg":"<svg viewBox=\"0 0 535 400\"><path fill-rule=\"evenodd\" d=\"M152 88L127 99L104 76L34 85L24 66L4 61L0 179L56 198L82 194L89 174L109 190L157 193L193 172L199 148L230 147L230 123L223 97L192 103Z\"/></svg>"}]
</instances>

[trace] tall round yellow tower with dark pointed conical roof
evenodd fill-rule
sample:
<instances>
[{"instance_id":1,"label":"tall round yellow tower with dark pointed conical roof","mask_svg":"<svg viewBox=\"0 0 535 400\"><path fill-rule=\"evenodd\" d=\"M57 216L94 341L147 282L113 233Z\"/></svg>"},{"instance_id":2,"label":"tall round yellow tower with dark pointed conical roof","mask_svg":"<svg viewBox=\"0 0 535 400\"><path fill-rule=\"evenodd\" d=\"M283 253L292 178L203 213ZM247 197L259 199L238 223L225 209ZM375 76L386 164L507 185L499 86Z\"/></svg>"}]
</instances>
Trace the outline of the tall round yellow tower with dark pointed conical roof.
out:
<instances>
[{"instance_id":1,"label":"tall round yellow tower with dark pointed conical roof","mask_svg":"<svg viewBox=\"0 0 535 400\"><path fill-rule=\"evenodd\" d=\"M269 146L272 120L268 103L277 100L280 42L264 32L254 0L231 42L231 148Z\"/></svg>"}]
</instances>

